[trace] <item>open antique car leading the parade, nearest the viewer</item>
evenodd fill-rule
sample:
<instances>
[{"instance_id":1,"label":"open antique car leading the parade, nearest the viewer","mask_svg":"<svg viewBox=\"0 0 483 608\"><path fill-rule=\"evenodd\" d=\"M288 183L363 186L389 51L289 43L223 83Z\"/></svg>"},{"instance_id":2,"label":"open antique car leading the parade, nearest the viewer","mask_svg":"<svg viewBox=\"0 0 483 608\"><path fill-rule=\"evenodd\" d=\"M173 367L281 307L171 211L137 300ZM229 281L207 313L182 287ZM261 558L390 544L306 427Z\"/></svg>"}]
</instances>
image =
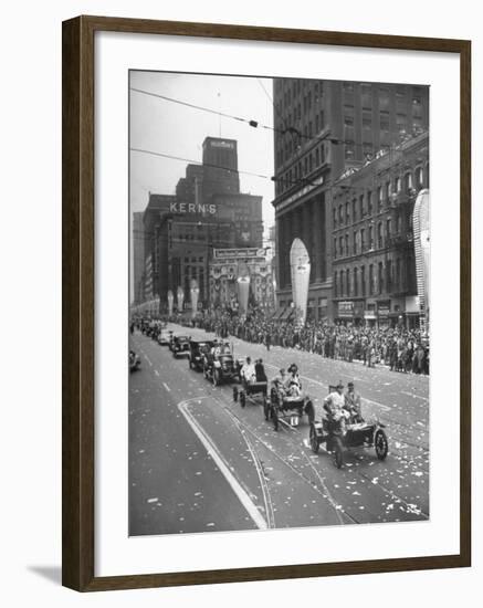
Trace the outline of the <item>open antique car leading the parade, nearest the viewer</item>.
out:
<instances>
[{"instance_id":1,"label":"open antique car leading the parade, nearest the viewer","mask_svg":"<svg viewBox=\"0 0 483 608\"><path fill-rule=\"evenodd\" d=\"M329 386L329 394L336 389ZM347 417L344 424L334 420L329 408L324 406L326 416L322 421L313 421L309 431L311 449L317 453L321 443L325 443L327 452L333 454L337 469L344 464L344 453L353 448L374 448L379 460L386 460L388 454L388 438L385 424L379 420L353 422Z\"/></svg>"}]
</instances>

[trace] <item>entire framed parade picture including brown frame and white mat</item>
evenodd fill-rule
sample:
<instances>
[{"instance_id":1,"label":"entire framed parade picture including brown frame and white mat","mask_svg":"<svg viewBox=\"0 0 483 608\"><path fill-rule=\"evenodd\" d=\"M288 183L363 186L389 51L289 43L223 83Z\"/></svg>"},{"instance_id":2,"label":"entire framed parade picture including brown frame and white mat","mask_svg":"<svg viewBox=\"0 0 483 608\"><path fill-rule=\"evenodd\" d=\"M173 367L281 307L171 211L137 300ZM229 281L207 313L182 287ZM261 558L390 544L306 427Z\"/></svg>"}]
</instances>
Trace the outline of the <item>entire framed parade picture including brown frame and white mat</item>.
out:
<instances>
[{"instance_id":1,"label":"entire framed parade picture including brown frame and white mat","mask_svg":"<svg viewBox=\"0 0 483 608\"><path fill-rule=\"evenodd\" d=\"M63 584L471 564L471 44L63 23Z\"/></svg>"}]
</instances>

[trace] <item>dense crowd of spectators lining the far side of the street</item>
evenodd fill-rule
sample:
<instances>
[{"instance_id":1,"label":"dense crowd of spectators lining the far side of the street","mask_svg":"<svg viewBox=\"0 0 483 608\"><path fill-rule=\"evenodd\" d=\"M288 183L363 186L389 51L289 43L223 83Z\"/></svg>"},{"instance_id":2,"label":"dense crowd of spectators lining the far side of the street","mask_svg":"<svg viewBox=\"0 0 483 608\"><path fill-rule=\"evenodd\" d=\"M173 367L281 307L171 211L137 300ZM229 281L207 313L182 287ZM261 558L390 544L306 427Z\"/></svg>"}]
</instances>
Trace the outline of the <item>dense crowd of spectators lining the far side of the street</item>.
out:
<instances>
[{"instance_id":1,"label":"dense crowd of spectators lining the far side of the street","mask_svg":"<svg viewBox=\"0 0 483 608\"><path fill-rule=\"evenodd\" d=\"M230 336L272 346L316 353L368 367L386 365L393 371L429 374L429 338L420 329L403 326L370 327L345 323L273 321L261 310L239 316L230 310L206 311L192 324L221 338Z\"/></svg>"}]
</instances>

